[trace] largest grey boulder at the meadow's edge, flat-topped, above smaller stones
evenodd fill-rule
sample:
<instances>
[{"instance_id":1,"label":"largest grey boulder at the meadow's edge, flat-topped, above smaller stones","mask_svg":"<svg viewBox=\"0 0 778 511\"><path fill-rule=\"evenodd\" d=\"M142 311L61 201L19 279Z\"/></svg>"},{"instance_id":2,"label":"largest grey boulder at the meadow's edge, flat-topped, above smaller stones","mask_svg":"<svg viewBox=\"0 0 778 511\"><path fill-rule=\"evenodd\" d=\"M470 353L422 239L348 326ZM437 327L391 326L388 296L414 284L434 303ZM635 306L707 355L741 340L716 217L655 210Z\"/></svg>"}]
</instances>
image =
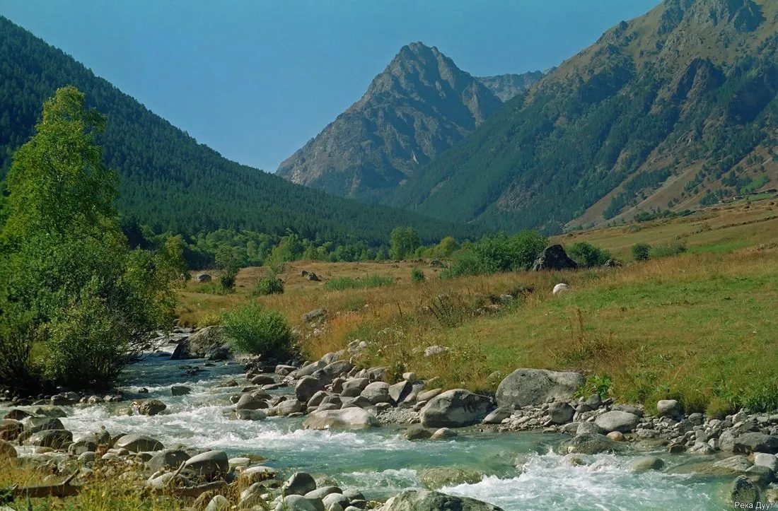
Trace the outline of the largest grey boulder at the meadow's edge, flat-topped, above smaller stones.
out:
<instances>
[{"instance_id":1,"label":"largest grey boulder at the meadow's edge, flat-topped, above smaller stones","mask_svg":"<svg viewBox=\"0 0 778 511\"><path fill-rule=\"evenodd\" d=\"M545 369L516 369L499 383L497 404L504 408L537 406L554 398L569 401L584 384L584 375Z\"/></svg>"}]
</instances>

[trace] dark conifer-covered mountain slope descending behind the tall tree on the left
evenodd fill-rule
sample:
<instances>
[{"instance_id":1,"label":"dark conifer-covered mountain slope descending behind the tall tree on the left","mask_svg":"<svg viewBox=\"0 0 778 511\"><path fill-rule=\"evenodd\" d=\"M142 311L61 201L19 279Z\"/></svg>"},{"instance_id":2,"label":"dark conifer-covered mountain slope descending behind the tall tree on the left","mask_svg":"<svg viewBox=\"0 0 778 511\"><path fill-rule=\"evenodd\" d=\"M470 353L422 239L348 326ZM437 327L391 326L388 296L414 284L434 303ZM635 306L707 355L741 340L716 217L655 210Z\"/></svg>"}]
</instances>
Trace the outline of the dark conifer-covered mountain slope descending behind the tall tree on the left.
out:
<instances>
[{"instance_id":1,"label":"dark conifer-covered mountain slope descending behind the tall tree on the left","mask_svg":"<svg viewBox=\"0 0 778 511\"><path fill-rule=\"evenodd\" d=\"M231 162L153 114L79 62L0 17L0 178L14 149L32 135L44 100L75 85L108 117L100 139L121 175L118 208L157 231L219 228L310 240L386 243L395 226L414 226L426 243L475 236L471 226L335 198ZM193 106L196 107L196 106Z\"/></svg>"}]
</instances>

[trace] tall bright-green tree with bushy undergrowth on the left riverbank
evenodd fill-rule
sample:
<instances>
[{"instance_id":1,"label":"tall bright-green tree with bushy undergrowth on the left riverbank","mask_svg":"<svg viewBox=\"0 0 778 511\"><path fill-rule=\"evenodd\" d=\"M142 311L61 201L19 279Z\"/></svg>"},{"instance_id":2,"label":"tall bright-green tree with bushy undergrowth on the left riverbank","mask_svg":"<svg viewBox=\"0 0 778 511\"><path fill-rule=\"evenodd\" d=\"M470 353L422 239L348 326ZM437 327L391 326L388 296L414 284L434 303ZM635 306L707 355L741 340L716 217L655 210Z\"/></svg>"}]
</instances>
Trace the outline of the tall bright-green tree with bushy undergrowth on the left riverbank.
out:
<instances>
[{"instance_id":1,"label":"tall bright-green tree with bushy undergrowth on the left riverbank","mask_svg":"<svg viewBox=\"0 0 778 511\"><path fill-rule=\"evenodd\" d=\"M118 177L95 142L104 126L83 93L63 87L14 154L0 232L3 383L110 383L172 319L180 239L130 250L113 206Z\"/></svg>"}]
</instances>

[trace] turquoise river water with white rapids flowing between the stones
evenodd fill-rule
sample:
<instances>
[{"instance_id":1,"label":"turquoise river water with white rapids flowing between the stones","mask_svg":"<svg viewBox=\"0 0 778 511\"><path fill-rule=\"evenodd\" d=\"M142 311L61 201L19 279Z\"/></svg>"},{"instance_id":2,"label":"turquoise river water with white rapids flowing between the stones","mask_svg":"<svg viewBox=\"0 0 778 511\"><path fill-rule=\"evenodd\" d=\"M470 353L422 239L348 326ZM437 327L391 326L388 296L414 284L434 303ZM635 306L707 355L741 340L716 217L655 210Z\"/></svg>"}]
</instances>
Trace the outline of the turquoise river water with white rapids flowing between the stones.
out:
<instances>
[{"instance_id":1,"label":"turquoise river water with white rapids flowing between the stones","mask_svg":"<svg viewBox=\"0 0 778 511\"><path fill-rule=\"evenodd\" d=\"M180 362L142 362L131 366L124 387L132 397L138 386L168 408L155 417L119 416L128 403L65 407L65 427L78 437L105 425L115 435L138 432L166 445L226 450L230 455L255 453L282 474L308 471L343 487L380 499L401 489L421 488L420 478L432 467L464 467L484 474L475 485L441 491L482 499L507 511L545 509L727 509L718 499L725 481L671 474L629 471L628 456L583 457L586 464L552 453L562 436L538 433L464 433L445 441L409 442L399 428L366 432L300 429L300 419L268 418L263 422L230 419L230 395L236 388L214 388L234 376L243 383L241 366L209 368L199 378L180 376ZM192 394L170 397L172 384L192 388ZM278 390L276 392L280 392ZM665 457L668 469L689 457ZM519 468L517 468L517 466Z\"/></svg>"}]
</instances>

